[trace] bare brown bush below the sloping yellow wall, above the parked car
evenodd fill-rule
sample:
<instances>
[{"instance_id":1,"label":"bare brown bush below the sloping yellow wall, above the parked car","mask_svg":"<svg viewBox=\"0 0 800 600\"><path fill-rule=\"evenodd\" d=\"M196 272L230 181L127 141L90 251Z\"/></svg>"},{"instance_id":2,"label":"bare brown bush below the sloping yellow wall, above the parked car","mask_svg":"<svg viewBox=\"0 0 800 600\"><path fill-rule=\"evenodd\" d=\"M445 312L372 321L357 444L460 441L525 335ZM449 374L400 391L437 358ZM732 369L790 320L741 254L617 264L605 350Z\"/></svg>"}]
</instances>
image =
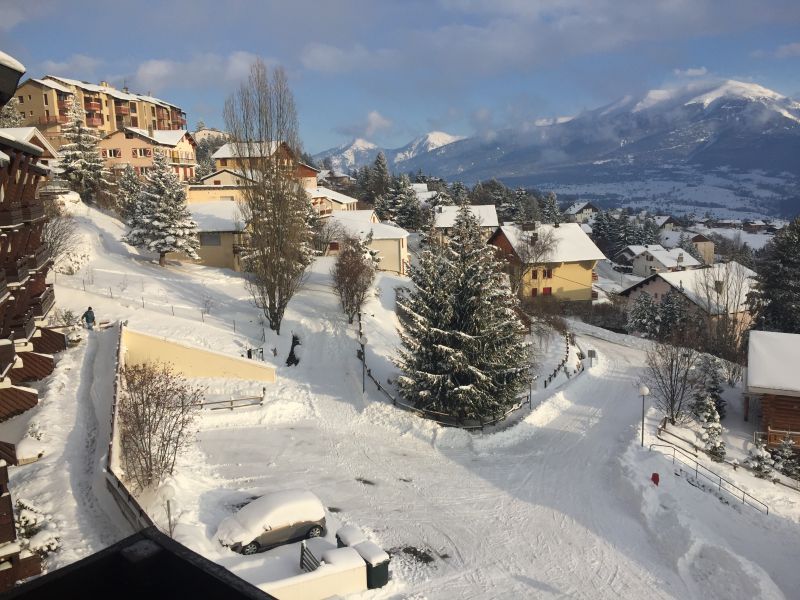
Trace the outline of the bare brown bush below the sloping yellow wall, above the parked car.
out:
<instances>
[{"instance_id":1,"label":"bare brown bush below the sloping yellow wall, above the parked car","mask_svg":"<svg viewBox=\"0 0 800 600\"><path fill-rule=\"evenodd\" d=\"M143 490L172 474L191 441L203 390L158 362L125 366L122 384L122 465L126 479Z\"/></svg>"}]
</instances>

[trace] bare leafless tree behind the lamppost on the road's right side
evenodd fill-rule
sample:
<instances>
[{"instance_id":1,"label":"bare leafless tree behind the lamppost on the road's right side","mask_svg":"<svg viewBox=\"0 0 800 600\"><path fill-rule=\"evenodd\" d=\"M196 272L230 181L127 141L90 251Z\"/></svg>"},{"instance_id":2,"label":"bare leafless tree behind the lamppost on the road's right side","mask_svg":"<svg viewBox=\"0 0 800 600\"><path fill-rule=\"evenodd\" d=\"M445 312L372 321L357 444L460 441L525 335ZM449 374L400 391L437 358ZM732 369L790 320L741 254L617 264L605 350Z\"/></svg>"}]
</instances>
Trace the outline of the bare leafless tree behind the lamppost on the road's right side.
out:
<instances>
[{"instance_id":1,"label":"bare leafless tree behind the lamppost on the road's right side","mask_svg":"<svg viewBox=\"0 0 800 600\"><path fill-rule=\"evenodd\" d=\"M675 425L691 418L689 404L697 386L694 372L700 353L672 344L653 344L647 351L644 381L656 405Z\"/></svg>"}]
</instances>

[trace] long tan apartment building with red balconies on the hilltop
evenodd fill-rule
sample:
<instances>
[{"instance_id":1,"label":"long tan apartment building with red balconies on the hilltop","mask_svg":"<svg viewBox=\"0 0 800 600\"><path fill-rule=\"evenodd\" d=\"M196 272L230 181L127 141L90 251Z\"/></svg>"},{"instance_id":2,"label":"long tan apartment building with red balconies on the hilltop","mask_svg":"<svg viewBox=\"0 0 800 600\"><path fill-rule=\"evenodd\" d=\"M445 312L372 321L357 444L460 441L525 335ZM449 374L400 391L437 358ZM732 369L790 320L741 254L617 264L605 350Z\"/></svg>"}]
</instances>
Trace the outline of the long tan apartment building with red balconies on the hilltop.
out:
<instances>
[{"instance_id":1,"label":"long tan apartment building with red balconies on the hilltop","mask_svg":"<svg viewBox=\"0 0 800 600\"><path fill-rule=\"evenodd\" d=\"M125 127L153 130L186 128L186 113L178 106L145 94L118 90L108 82L99 85L47 75L27 79L16 91L25 124L39 128L56 149L65 139L61 125L67 120L67 107L77 98L86 111L86 126L101 136Z\"/></svg>"}]
</instances>

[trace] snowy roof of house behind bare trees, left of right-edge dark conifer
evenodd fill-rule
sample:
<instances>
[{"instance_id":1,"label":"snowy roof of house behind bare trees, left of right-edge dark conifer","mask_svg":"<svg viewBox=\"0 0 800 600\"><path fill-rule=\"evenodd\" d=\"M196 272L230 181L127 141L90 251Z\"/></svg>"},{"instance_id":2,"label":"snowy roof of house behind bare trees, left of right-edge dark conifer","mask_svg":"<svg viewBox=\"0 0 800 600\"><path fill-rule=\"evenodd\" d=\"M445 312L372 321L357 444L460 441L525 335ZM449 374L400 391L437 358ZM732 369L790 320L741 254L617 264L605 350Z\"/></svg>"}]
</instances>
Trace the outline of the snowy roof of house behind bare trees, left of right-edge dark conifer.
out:
<instances>
[{"instance_id":1,"label":"snowy roof of house behind bare trees, left of right-edge dark conifer","mask_svg":"<svg viewBox=\"0 0 800 600\"><path fill-rule=\"evenodd\" d=\"M755 273L736 261L716 263L701 269L654 273L620 292L623 296L643 287L656 278L668 283L670 287L682 293L688 300L711 315L743 312L747 309L747 294L752 289ZM718 293L715 282L720 281L727 286Z\"/></svg>"}]
</instances>

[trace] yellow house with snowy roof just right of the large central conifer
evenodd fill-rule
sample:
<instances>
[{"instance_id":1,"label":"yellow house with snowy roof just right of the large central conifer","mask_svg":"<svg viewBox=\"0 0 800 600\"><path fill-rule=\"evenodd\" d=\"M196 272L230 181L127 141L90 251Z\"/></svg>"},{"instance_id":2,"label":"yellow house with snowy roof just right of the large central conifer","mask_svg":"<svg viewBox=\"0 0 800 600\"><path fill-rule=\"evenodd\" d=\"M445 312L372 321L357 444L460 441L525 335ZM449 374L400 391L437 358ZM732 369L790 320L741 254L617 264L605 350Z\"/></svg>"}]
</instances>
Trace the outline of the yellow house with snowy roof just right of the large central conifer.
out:
<instances>
[{"instance_id":1,"label":"yellow house with snowy roof just right of the large central conifer","mask_svg":"<svg viewBox=\"0 0 800 600\"><path fill-rule=\"evenodd\" d=\"M526 245L533 236L552 236L553 247L530 262ZM557 300L592 300L592 281L597 261L605 256L578 223L540 225L520 228L498 227L489 238L508 260L511 272L521 274L519 296L522 299L552 296Z\"/></svg>"}]
</instances>

